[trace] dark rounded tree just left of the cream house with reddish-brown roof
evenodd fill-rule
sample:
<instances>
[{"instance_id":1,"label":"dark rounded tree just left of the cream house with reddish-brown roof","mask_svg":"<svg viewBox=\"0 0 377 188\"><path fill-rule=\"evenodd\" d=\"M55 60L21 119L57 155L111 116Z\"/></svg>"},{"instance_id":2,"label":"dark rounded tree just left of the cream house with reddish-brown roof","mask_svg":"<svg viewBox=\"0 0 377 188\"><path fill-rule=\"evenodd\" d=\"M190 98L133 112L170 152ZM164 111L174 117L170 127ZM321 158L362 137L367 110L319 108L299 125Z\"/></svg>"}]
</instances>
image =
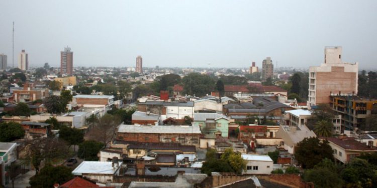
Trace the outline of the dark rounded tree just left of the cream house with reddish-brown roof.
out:
<instances>
[{"instance_id":1,"label":"dark rounded tree just left of the cream house with reddish-brown roof","mask_svg":"<svg viewBox=\"0 0 377 188\"><path fill-rule=\"evenodd\" d=\"M333 159L333 150L327 140L305 138L297 144L295 158L303 168L313 168L323 158Z\"/></svg>"}]
</instances>

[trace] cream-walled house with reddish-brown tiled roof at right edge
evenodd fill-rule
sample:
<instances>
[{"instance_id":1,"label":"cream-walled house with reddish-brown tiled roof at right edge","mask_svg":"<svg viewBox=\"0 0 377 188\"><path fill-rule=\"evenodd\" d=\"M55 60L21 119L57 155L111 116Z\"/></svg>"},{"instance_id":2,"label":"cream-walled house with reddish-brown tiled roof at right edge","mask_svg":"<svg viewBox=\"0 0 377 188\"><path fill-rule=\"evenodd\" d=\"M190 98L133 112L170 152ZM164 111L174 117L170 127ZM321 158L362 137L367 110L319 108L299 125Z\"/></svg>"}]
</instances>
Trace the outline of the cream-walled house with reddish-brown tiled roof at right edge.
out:
<instances>
[{"instance_id":1,"label":"cream-walled house with reddish-brown tiled roof at right edge","mask_svg":"<svg viewBox=\"0 0 377 188\"><path fill-rule=\"evenodd\" d=\"M329 145L334 151L334 158L342 163L347 163L362 153L377 151L377 147L374 147L371 142L366 145L356 141L353 137L324 137L322 139L329 141Z\"/></svg>"}]
</instances>

